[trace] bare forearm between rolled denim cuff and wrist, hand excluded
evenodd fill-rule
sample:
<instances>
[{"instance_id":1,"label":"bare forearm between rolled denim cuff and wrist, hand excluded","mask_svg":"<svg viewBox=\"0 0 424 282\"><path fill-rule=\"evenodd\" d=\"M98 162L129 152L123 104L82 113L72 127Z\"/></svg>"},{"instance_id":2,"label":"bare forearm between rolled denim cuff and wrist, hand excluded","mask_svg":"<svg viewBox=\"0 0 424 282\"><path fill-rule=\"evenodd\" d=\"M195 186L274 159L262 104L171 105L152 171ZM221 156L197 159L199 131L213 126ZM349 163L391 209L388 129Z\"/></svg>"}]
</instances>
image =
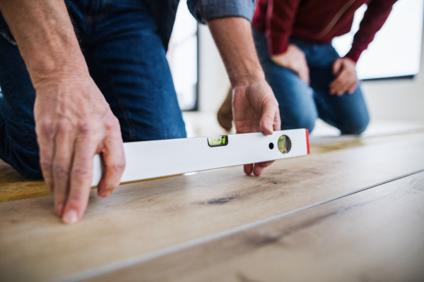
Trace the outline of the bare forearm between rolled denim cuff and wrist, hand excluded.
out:
<instances>
[{"instance_id":1,"label":"bare forearm between rolled denim cuff and wrist, hand excluded","mask_svg":"<svg viewBox=\"0 0 424 282\"><path fill-rule=\"evenodd\" d=\"M223 59L232 87L264 80L257 57L252 27L245 18L230 17L208 21L213 39Z\"/></svg>"}]
</instances>

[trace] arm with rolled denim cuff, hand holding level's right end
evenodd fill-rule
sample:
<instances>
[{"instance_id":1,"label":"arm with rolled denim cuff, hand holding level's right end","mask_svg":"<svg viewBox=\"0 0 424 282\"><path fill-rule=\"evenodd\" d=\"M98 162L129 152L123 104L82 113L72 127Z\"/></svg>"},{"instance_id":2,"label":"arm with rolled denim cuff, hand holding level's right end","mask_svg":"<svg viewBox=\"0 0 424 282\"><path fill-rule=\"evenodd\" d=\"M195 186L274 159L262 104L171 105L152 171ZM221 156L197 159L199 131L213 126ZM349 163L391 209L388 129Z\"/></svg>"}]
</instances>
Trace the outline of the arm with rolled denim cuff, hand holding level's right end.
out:
<instances>
[{"instance_id":1,"label":"arm with rolled denim cuff, hand holding level's right end","mask_svg":"<svg viewBox=\"0 0 424 282\"><path fill-rule=\"evenodd\" d=\"M206 23L223 58L232 85L232 114L237 133L271 134L281 128L278 102L265 80L252 37L252 0L188 0L194 18ZM245 165L259 176L272 161Z\"/></svg>"}]
</instances>

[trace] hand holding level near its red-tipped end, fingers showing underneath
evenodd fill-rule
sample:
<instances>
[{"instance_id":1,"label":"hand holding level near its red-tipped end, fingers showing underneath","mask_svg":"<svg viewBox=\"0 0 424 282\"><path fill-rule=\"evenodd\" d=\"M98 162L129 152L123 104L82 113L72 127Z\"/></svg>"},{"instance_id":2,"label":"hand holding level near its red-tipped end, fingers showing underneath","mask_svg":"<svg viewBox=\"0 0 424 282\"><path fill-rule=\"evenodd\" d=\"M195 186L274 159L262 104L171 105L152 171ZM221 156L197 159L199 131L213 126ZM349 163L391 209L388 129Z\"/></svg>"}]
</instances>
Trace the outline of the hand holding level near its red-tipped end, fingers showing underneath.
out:
<instances>
[{"instance_id":1,"label":"hand holding level near its red-tipped end, fingers showing underneath","mask_svg":"<svg viewBox=\"0 0 424 282\"><path fill-rule=\"evenodd\" d=\"M273 130L281 129L278 102L265 80L234 87L232 113L236 133L261 132L269 135ZM253 172L255 176L260 176L264 168L272 163L245 164L245 173L249 175Z\"/></svg>"}]
</instances>

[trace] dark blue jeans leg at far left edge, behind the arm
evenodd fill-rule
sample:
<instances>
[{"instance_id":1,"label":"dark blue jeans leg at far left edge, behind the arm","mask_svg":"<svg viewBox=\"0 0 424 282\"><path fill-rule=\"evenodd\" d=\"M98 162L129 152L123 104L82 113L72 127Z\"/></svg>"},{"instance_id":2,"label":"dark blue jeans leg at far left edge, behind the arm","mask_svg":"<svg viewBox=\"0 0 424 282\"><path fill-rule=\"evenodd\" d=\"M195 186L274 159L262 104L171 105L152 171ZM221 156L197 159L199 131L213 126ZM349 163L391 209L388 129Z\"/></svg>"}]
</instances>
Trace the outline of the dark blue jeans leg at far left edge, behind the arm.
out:
<instances>
[{"instance_id":1,"label":"dark blue jeans leg at far left edge, behind the arm","mask_svg":"<svg viewBox=\"0 0 424 282\"><path fill-rule=\"evenodd\" d=\"M23 176L42 178L35 136L35 90L0 13L0 159Z\"/></svg>"}]
</instances>

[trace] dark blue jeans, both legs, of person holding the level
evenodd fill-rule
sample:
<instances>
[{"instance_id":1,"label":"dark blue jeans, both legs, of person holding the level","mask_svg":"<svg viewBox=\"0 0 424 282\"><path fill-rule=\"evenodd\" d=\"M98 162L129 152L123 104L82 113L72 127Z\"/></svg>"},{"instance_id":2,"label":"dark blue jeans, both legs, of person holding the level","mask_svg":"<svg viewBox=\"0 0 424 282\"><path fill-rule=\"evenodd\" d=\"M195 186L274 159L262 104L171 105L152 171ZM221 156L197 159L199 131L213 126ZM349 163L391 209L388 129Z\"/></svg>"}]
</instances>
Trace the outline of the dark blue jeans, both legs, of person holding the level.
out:
<instances>
[{"instance_id":1,"label":"dark blue jeans, both legs, of person holding the level","mask_svg":"<svg viewBox=\"0 0 424 282\"><path fill-rule=\"evenodd\" d=\"M119 119L124 142L186 137L165 48L142 0L66 0L90 75ZM0 158L42 178L35 90L0 14Z\"/></svg>"}]
</instances>

